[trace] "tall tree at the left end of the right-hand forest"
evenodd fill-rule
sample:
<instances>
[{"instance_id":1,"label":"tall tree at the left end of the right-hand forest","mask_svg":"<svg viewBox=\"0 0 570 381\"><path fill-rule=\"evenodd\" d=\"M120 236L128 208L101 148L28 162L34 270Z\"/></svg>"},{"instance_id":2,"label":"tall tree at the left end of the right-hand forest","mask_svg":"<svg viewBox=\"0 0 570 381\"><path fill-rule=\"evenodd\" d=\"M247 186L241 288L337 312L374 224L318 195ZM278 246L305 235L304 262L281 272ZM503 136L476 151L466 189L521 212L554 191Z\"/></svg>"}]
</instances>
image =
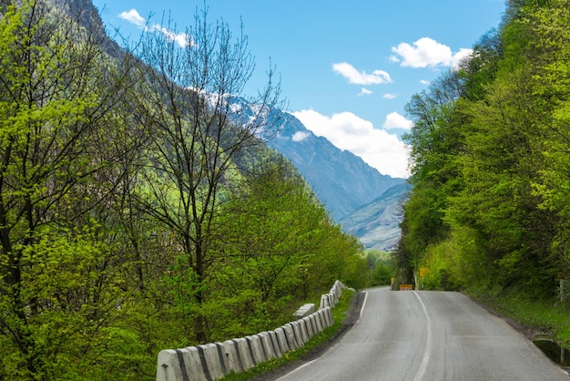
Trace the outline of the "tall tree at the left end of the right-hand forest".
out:
<instances>
[{"instance_id":1,"label":"tall tree at the left end of the right-hand forest","mask_svg":"<svg viewBox=\"0 0 570 381\"><path fill-rule=\"evenodd\" d=\"M449 197L462 186L455 158L463 149L464 115L457 104L464 81L462 71L450 70L406 105L414 121L411 133L403 137L412 146L413 188L403 207L402 242L396 252L405 282L412 282L412 268L430 243L450 232L443 217Z\"/></svg>"}]
</instances>

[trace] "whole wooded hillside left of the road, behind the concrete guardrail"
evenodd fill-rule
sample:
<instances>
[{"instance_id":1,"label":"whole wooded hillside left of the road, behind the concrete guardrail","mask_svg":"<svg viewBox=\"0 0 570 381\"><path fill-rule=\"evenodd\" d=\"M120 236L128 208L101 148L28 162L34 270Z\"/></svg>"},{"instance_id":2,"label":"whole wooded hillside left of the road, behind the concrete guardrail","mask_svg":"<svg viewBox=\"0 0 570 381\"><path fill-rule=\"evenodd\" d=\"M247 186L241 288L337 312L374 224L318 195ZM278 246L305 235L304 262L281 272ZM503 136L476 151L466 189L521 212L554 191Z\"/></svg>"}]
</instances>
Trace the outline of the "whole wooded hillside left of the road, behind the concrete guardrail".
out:
<instances>
[{"instance_id":1,"label":"whole wooded hillside left of the road, behind the concrete guardrail","mask_svg":"<svg viewBox=\"0 0 570 381\"><path fill-rule=\"evenodd\" d=\"M243 94L243 31L201 13L184 47L148 29L121 52L69 3L0 1L0 379L154 379L161 349L365 285L360 244L264 143L280 88L270 68Z\"/></svg>"}]
</instances>

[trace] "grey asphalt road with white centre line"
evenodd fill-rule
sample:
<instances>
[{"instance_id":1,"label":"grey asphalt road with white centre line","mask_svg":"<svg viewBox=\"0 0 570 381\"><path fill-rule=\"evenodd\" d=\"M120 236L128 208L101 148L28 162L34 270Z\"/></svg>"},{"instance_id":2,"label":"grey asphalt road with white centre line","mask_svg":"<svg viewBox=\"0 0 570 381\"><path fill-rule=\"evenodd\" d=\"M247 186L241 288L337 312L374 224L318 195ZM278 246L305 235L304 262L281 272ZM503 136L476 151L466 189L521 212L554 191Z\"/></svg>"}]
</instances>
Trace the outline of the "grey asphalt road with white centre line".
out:
<instances>
[{"instance_id":1,"label":"grey asphalt road with white centre line","mask_svg":"<svg viewBox=\"0 0 570 381\"><path fill-rule=\"evenodd\" d=\"M287 380L566 380L524 335L462 293L366 291L361 317Z\"/></svg>"}]
</instances>

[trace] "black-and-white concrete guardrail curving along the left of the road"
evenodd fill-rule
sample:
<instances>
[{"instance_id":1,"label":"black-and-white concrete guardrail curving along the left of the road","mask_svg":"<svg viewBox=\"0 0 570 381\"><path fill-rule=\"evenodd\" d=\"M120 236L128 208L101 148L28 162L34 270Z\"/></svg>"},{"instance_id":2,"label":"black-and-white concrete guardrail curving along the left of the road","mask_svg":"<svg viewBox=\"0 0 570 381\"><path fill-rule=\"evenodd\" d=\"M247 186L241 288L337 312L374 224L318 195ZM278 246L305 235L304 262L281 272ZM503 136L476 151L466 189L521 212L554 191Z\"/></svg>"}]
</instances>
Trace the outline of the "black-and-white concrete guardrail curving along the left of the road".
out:
<instances>
[{"instance_id":1,"label":"black-and-white concrete guardrail curving along the left of the road","mask_svg":"<svg viewBox=\"0 0 570 381\"><path fill-rule=\"evenodd\" d=\"M162 350L158 353L157 381L211 381L298 349L334 324L331 308L339 302L343 289L349 288L336 281L329 293L321 295L318 311L273 331L223 343Z\"/></svg>"}]
</instances>

